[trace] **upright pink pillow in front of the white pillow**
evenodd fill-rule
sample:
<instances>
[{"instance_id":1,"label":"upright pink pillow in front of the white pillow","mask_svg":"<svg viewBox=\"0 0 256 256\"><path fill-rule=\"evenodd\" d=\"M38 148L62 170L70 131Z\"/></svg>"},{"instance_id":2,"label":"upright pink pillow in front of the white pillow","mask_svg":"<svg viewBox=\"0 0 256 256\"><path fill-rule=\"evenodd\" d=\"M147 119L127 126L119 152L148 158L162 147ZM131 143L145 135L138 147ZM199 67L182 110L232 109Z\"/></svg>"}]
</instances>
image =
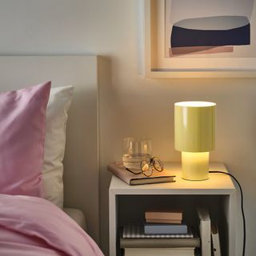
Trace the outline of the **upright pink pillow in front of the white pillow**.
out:
<instances>
[{"instance_id":1,"label":"upright pink pillow in front of the white pillow","mask_svg":"<svg viewBox=\"0 0 256 256\"><path fill-rule=\"evenodd\" d=\"M50 82L0 94L0 194L42 197Z\"/></svg>"}]
</instances>

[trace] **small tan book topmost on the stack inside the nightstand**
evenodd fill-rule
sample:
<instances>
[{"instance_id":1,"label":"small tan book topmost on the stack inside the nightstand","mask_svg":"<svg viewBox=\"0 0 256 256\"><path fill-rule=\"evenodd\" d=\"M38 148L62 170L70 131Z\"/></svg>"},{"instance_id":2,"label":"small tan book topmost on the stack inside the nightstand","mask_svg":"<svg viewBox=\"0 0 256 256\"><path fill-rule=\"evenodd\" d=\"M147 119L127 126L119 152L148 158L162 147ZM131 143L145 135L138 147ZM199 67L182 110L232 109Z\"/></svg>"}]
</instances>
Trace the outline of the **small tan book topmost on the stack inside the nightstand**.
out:
<instances>
[{"instance_id":1,"label":"small tan book topmost on the stack inside the nightstand","mask_svg":"<svg viewBox=\"0 0 256 256\"><path fill-rule=\"evenodd\" d=\"M182 210L147 210L145 212L146 219L169 219L182 220Z\"/></svg>"}]
</instances>

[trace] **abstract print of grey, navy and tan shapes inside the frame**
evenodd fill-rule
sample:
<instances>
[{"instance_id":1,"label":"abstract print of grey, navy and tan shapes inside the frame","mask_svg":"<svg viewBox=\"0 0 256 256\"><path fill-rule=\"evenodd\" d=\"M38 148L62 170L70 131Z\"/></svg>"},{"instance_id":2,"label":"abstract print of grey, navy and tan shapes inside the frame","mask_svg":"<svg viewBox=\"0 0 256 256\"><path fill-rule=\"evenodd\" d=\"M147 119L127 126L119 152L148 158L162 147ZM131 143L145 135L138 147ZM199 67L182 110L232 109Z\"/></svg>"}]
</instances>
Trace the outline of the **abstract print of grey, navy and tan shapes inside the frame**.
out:
<instances>
[{"instance_id":1,"label":"abstract print of grey, navy and tan shapes inside the frame","mask_svg":"<svg viewBox=\"0 0 256 256\"><path fill-rule=\"evenodd\" d=\"M254 0L166 0L168 57L230 53L234 46L250 45L253 6Z\"/></svg>"}]
</instances>

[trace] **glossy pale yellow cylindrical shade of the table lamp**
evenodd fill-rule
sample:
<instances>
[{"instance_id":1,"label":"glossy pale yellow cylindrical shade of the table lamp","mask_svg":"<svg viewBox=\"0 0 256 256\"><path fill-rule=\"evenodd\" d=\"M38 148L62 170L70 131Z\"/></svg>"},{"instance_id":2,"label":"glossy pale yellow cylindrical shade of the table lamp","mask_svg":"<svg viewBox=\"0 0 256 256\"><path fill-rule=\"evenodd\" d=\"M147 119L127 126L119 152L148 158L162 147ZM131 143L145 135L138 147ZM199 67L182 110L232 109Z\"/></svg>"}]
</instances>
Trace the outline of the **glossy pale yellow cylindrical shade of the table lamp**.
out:
<instances>
[{"instance_id":1,"label":"glossy pale yellow cylindrical shade of the table lamp","mask_svg":"<svg viewBox=\"0 0 256 256\"><path fill-rule=\"evenodd\" d=\"M215 146L214 102L174 104L175 149L184 152L209 152Z\"/></svg>"}]
</instances>

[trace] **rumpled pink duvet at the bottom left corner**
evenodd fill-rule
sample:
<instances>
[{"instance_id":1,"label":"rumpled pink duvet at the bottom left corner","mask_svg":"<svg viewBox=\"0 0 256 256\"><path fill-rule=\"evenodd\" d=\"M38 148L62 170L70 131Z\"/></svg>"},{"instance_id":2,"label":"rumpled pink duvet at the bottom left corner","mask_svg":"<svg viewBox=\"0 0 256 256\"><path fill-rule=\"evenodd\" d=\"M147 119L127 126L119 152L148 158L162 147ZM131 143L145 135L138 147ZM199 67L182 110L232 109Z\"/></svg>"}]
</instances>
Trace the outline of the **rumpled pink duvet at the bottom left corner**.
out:
<instances>
[{"instance_id":1,"label":"rumpled pink duvet at the bottom left corner","mask_svg":"<svg viewBox=\"0 0 256 256\"><path fill-rule=\"evenodd\" d=\"M43 198L0 194L0 256L102 256L94 240Z\"/></svg>"}]
</instances>

